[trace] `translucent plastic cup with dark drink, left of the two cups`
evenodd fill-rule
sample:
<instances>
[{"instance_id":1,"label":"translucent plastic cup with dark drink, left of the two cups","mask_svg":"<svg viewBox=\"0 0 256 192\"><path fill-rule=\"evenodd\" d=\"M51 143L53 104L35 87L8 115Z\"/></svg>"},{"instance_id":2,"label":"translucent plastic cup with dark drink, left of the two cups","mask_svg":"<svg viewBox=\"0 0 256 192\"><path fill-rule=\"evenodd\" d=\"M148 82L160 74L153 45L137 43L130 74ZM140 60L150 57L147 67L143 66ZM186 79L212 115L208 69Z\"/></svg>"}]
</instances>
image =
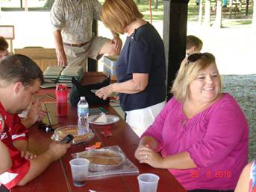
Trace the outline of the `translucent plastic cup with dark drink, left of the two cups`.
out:
<instances>
[{"instance_id":1,"label":"translucent plastic cup with dark drink, left of the two cups","mask_svg":"<svg viewBox=\"0 0 256 192\"><path fill-rule=\"evenodd\" d=\"M69 164L71 167L73 184L76 187L84 186L86 184L90 161L88 159L78 158L70 160Z\"/></svg>"}]
</instances>

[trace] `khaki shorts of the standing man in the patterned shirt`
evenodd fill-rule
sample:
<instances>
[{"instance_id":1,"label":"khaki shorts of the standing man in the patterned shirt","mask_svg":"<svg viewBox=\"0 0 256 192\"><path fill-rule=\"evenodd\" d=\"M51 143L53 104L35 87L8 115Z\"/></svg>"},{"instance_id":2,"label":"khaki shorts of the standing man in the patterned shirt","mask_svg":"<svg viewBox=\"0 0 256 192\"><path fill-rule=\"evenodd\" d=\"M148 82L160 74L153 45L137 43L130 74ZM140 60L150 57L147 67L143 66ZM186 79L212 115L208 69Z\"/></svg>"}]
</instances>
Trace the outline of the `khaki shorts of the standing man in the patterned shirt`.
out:
<instances>
[{"instance_id":1,"label":"khaki shorts of the standing man in the patterned shirt","mask_svg":"<svg viewBox=\"0 0 256 192\"><path fill-rule=\"evenodd\" d=\"M84 71L87 71L87 58L90 57L93 60L99 60L99 51L101 51L103 45L109 42L110 39L102 36L93 36L93 38L83 47L71 47L63 45L68 65L83 66Z\"/></svg>"}]
</instances>

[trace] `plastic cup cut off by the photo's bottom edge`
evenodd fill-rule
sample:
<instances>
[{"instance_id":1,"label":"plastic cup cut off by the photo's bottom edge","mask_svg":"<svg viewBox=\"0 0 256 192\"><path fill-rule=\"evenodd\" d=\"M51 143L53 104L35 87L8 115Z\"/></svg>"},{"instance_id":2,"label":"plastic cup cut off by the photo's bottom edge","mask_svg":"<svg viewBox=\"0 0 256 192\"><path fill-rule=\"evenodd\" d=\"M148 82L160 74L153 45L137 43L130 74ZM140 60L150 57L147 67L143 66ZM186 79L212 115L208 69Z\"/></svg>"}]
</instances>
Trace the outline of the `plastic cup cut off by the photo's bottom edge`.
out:
<instances>
[{"instance_id":1,"label":"plastic cup cut off by the photo's bottom edge","mask_svg":"<svg viewBox=\"0 0 256 192\"><path fill-rule=\"evenodd\" d=\"M143 173L137 177L140 192L156 192L159 176L152 173Z\"/></svg>"}]
</instances>

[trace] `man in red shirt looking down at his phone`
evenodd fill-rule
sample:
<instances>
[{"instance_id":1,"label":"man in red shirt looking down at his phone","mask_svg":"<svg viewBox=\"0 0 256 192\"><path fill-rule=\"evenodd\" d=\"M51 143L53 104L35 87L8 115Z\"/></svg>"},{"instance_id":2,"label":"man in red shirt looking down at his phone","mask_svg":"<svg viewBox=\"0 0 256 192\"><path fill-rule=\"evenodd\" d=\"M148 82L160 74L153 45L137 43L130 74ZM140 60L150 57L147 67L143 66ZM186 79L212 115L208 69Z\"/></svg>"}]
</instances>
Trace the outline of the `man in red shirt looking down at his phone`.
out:
<instances>
[{"instance_id":1,"label":"man in red shirt looking down at his phone","mask_svg":"<svg viewBox=\"0 0 256 192\"><path fill-rule=\"evenodd\" d=\"M7 168L3 170L0 167L0 183L7 189L30 182L70 147L70 144L53 142L40 156L34 156L28 151L28 129L23 126L17 114L33 100L41 83L43 72L28 57L17 54L1 61L0 114L4 120L4 129L0 142L7 147L11 163L7 163ZM7 156L0 150L1 158L8 159Z\"/></svg>"}]
</instances>

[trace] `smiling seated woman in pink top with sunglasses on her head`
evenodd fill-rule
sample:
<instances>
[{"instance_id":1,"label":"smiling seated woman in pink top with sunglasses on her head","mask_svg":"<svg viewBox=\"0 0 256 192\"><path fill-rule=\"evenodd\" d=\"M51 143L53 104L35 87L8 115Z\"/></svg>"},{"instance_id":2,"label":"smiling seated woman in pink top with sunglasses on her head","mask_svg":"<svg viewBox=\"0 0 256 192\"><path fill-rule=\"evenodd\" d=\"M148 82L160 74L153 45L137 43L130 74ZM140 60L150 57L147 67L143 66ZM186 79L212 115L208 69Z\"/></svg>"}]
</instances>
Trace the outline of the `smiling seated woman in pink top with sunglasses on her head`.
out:
<instances>
[{"instance_id":1,"label":"smiling seated woman in pink top with sunglasses on her head","mask_svg":"<svg viewBox=\"0 0 256 192\"><path fill-rule=\"evenodd\" d=\"M214 56L187 57L172 94L135 157L168 169L187 191L234 191L247 163L249 127L234 97L221 92Z\"/></svg>"}]
</instances>

